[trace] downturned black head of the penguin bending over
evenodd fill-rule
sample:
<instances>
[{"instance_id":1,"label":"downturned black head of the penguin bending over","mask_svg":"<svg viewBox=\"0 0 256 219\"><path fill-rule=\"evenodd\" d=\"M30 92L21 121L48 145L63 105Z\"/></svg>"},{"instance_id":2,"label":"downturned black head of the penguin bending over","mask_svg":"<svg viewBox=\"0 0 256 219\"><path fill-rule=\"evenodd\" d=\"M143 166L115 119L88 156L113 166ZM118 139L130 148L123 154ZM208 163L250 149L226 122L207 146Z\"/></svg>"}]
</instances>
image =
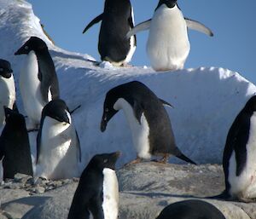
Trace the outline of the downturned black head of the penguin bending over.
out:
<instances>
[{"instance_id":1,"label":"downturned black head of the penguin bending over","mask_svg":"<svg viewBox=\"0 0 256 219\"><path fill-rule=\"evenodd\" d=\"M119 99L119 95L115 92L115 89L110 89L106 95L103 107L103 115L102 115L102 123L101 123L101 130L102 132L106 130L108 121L113 118L115 113L118 110L113 108L114 103Z\"/></svg>"}]
</instances>

